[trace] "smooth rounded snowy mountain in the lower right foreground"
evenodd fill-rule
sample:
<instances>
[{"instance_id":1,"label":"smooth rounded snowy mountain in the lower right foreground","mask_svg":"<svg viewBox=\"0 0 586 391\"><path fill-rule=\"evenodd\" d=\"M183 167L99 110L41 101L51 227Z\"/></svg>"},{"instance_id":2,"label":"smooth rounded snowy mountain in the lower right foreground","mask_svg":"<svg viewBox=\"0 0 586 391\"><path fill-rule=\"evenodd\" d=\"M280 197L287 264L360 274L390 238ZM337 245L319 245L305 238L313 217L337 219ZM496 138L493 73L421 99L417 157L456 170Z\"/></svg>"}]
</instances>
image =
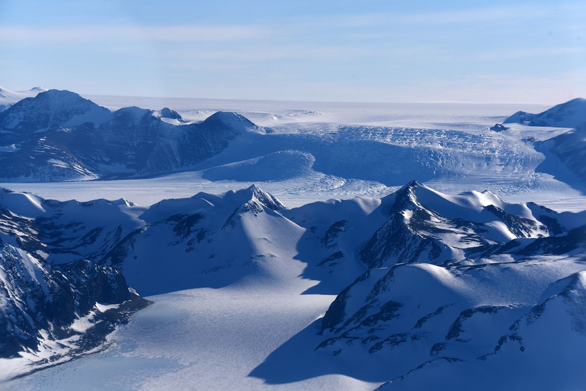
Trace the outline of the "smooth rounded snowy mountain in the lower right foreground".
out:
<instances>
[{"instance_id":1,"label":"smooth rounded snowy mountain in the lower right foreground","mask_svg":"<svg viewBox=\"0 0 586 391\"><path fill-rule=\"evenodd\" d=\"M384 390L427 389L432 379L453 389L580 389L582 263L564 256L372 269L332 303L316 351L340 365L372 365L389 380Z\"/></svg>"}]
</instances>

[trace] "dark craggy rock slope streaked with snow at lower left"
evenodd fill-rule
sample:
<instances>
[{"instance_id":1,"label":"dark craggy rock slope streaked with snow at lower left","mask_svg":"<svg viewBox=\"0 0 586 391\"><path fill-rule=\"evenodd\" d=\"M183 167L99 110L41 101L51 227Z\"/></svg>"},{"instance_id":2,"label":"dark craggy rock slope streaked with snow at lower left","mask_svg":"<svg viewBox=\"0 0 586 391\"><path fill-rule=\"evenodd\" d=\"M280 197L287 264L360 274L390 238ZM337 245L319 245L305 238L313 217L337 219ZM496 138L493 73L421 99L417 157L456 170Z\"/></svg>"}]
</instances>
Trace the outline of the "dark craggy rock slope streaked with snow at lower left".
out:
<instances>
[{"instance_id":1,"label":"dark craggy rock slope streaked with snow at lower left","mask_svg":"<svg viewBox=\"0 0 586 391\"><path fill-rule=\"evenodd\" d=\"M108 311L124 321L147 304L128 289L120 271L88 260L56 266L5 244L0 270L0 352L5 358L50 351L52 341L62 341L60 354L95 347L118 322L108 319ZM87 333L98 323L99 330Z\"/></svg>"}]
</instances>

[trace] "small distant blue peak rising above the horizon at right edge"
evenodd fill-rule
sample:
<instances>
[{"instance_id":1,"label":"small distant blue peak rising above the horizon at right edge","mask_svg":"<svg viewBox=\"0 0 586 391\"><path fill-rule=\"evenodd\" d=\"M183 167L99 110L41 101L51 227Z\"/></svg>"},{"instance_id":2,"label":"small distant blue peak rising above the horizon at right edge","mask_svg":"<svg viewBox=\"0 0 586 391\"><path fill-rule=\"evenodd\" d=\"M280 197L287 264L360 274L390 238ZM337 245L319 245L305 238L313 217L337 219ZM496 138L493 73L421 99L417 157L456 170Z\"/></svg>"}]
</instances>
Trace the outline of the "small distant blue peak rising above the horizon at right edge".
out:
<instances>
[{"instance_id":1,"label":"small distant blue peak rising above the horizon at right edge","mask_svg":"<svg viewBox=\"0 0 586 391\"><path fill-rule=\"evenodd\" d=\"M503 124L526 124L531 126L556 126L558 128L581 128L586 125L586 99L575 98L556 105L539 114L517 111Z\"/></svg>"}]
</instances>

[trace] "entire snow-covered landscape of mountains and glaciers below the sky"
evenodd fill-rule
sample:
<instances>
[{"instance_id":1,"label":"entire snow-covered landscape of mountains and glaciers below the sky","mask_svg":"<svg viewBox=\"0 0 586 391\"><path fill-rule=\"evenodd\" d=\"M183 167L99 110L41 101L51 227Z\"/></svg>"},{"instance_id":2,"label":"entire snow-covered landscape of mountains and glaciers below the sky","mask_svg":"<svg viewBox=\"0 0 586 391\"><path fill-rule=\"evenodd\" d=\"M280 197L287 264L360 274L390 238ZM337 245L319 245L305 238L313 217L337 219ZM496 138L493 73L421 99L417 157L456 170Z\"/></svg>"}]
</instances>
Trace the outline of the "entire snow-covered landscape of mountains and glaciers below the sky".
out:
<instances>
[{"instance_id":1,"label":"entire snow-covered landscape of mountains and glaciers below the sky","mask_svg":"<svg viewBox=\"0 0 586 391\"><path fill-rule=\"evenodd\" d=\"M586 383L586 101L85 98L0 112L3 389Z\"/></svg>"}]
</instances>

